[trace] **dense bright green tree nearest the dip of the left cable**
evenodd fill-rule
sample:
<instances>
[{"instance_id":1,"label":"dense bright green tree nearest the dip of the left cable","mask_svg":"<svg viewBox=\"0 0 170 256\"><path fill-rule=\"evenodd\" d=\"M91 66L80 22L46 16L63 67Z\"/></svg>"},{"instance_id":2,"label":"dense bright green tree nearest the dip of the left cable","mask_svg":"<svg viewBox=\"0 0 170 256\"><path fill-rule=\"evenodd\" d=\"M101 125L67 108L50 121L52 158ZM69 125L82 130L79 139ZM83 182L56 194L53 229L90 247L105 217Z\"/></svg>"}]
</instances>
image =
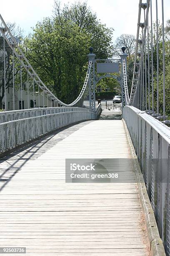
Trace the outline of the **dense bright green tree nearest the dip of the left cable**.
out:
<instances>
[{"instance_id":1,"label":"dense bright green tree nearest the dip of the left cable","mask_svg":"<svg viewBox=\"0 0 170 256\"><path fill-rule=\"evenodd\" d=\"M66 21L60 26L50 18L37 23L23 45L42 81L67 102L82 86L89 46L90 38L77 25Z\"/></svg>"}]
</instances>

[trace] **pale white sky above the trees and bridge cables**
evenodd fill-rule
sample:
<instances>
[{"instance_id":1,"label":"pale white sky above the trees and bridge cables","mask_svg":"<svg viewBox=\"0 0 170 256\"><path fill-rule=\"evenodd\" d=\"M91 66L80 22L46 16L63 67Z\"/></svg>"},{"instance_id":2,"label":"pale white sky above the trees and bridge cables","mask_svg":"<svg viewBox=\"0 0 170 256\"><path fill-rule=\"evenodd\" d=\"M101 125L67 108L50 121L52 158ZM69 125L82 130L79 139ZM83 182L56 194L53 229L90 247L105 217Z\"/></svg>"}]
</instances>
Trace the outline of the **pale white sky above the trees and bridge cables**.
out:
<instances>
[{"instance_id":1,"label":"pale white sky above the trees and bridge cables","mask_svg":"<svg viewBox=\"0 0 170 256\"><path fill-rule=\"evenodd\" d=\"M61 0L62 4L68 3L68 0ZM74 3L75 0L69 0ZM145 3L146 0L143 1ZM123 33L136 36L138 23L138 3L139 0L87 0L92 11L107 27L115 29L113 32L113 41ZM161 18L161 0L158 0L158 14ZM52 15L54 0L8 0L1 5L0 14L5 22L15 22L24 31L25 35L31 32L37 21L44 17ZM155 0L153 0L153 9L155 9ZM164 0L165 23L170 19L170 0ZM155 11L153 11L153 20ZM143 21L141 21L143 22Z\"/></svg>"}]
</instances>

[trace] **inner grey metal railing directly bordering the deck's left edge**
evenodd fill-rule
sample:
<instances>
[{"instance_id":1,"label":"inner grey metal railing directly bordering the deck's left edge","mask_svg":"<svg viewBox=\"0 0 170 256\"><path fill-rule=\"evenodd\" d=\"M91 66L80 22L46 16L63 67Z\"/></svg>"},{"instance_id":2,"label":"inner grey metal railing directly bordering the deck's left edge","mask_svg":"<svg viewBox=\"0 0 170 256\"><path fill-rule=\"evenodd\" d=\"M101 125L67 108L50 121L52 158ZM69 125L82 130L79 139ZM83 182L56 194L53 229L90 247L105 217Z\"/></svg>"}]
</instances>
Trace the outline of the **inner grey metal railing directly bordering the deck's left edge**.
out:
<instances>
[{"instance_id":1,"label":"inner grey metal railing directly bordering the deck's left edge","mask_svg":"<svg viewBox=\"0 0 170 256\"><path fill-rule=\"evenodd\" d=\"M81 110L39 115L1 123L0 154L57 128L95 118L94 112L82 108Z\"/></svg>"}]
</instances>

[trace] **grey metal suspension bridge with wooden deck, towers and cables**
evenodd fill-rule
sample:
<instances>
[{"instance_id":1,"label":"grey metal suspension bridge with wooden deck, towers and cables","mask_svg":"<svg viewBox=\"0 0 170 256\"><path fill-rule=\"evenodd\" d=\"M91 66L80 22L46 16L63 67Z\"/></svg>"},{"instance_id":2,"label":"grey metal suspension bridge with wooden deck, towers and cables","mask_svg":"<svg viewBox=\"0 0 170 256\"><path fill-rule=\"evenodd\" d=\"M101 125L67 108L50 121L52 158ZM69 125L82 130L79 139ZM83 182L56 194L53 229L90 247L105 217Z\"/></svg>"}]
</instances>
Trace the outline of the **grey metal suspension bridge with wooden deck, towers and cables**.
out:
<instances>
[{"instance_id":1,"label":"grey metal suspension bridge with wooden deck, towers and cables","mask_svg":"<svg viewBox=\"0 0 170 256\"><path fill-rule=\"evenodd\" d=\"M170 255L170 121L165 115L163 0L161 4L163 113L159 108L159 47L157 68L153 65L151 0L139 1L130 93L125 49L119 59L96 59L90 48L85 82L70 104L59 100L42 82L0 15L5 102L5 111L0 113L0 253ZM6 44L12 50L12 111L7 111ZM16 58L20 61L20 104L15 100ZM23 70L27 73L27 108ZM121 120L100 119L95 87L105 77L120 83ZM89 164L88 169L70 173L72 164L80 167L82 163Z\"/></svg>"}]
</instances>

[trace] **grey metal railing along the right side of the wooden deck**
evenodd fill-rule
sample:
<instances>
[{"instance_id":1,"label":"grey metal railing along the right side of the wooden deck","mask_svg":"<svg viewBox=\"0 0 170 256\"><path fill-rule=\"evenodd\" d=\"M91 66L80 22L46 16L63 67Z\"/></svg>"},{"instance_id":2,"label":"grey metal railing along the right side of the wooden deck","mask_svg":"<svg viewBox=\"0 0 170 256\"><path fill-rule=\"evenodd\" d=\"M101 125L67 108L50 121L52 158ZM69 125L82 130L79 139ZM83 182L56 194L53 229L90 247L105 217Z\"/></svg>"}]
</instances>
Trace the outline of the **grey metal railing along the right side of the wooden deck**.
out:
<instances>
[{"instance_id":1,"label":"grey metal railing along the right side of the wooden deck","mask_svg":"<svg viewBox=\"0 0 170 256\"><path fill-rule=\"evenodd\" d=\"M170 253L170 128L133 106L122 110L148 191L158 230Z\"/></svg>"}]
</instances>

